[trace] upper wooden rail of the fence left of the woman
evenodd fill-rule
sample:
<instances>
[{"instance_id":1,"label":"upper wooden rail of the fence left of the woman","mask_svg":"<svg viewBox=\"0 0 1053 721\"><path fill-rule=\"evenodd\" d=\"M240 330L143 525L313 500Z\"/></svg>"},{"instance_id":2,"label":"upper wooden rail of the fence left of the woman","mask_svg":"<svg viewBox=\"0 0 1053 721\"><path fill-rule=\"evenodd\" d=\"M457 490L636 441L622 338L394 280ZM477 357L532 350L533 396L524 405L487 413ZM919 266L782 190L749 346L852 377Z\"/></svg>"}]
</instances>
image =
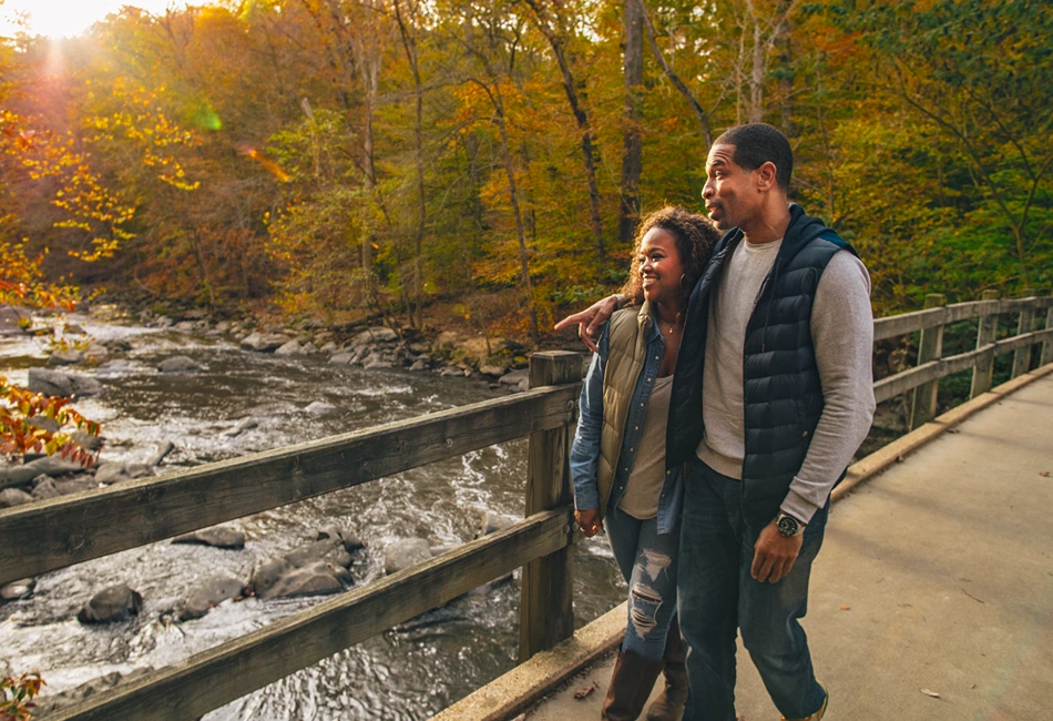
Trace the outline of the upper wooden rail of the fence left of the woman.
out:
<instances>
[{"instance_id":1,"label":"upper wooden rail of the fence left of the woman","mask_svg":"<svg viewBox=\"0 0 1053 721\"><path fill-rule=\"evenodd\" d=\"M526 393L0 510L0 585L564 428L580 385Z\"/></svg>"}]
</instances>

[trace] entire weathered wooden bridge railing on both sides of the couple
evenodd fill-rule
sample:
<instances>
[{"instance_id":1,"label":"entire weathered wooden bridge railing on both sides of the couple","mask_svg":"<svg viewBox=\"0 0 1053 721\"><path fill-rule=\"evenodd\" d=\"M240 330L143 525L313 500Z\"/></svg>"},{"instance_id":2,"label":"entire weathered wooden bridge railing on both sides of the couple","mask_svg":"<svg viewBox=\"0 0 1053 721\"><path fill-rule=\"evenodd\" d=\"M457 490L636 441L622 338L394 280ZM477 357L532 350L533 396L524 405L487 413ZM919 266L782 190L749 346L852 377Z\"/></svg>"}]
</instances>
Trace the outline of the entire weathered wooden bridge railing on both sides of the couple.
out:
<instances>
[{"instance_id":1,"label":"entire weathered wooden bridge railing on both sides of the couple","mask_svg":"<svg viewBox=\"0 0 1053 721\"><path fill-rule=\"evenodd\" d=\"M1034 331L1045 311L1045 329ZM1018 334L995 339L998 317ZM979 318L977 347L942 356L945 325ZM918 365L875 383L879 402L913 392L911 427L936 414L943 376L973 368L971 395L991 387L994 359L1012 374L1053 362L1053 297L943 305L875 321L875 341L921 332ZM151 672L49 719L197 719L256 689L523 567L520 660L574 630L574 526L569 478L581 356L535 353L531 389L505 398L334 436L191 470L0 510L0 585L178 534L349 488L529 435L525 519L384 580L324 600L247 636Z\"/></svg>"}]
</instances>

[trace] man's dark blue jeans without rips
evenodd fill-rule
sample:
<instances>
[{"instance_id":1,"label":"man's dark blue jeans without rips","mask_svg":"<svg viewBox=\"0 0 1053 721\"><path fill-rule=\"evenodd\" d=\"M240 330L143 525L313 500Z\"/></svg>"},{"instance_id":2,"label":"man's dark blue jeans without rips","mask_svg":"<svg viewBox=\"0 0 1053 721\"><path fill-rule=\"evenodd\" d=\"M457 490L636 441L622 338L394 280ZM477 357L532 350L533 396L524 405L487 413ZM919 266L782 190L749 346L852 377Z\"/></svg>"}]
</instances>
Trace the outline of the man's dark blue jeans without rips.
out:
<instances>
[{"instance_id":1,"label":"man's dark blue jeans without rips","mask_svg":"<svg viewBox=\"0 0 1053 721\"><path fill-rule=\"evenodd\" d=\"M808 640L799 619L808 610L811 563L822 546L829 505L805 528L800 555L777 583L749 569L761 528L743 519L743 483L701 460L685 481L681 521L679 622L687 643L691 698L684 721L735 721L735 637L760 672L775 707L801 719L822 705Z\"/></svg>"}]
</instances>

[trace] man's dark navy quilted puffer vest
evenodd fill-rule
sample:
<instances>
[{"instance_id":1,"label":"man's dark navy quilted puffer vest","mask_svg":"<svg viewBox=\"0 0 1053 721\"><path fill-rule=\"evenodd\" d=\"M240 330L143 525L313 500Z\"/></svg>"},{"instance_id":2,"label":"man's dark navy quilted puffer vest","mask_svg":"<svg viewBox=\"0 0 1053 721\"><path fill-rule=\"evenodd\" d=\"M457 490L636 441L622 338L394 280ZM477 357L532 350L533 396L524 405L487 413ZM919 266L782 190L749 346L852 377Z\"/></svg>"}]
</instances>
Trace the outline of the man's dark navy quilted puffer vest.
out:
<instances>
[{"instance_id":1,"label":"man's dark navy quilted puffer vest","mask_svg":"<svg viewBox=\"0 0 1053 721\"><path fill-rule=\"evenodd\" d=\"M742 237L742 231L734 229L720 238L691 295L666 430L671 468L693 460L705 434L702 386L709 295ZM856 253L822 221L791 204L789 227L746 326L743 512L754 526L778 515L822 413L822 387L811 343L811 304L822 271L841 250Z\"/></svg>"}]
</instances>

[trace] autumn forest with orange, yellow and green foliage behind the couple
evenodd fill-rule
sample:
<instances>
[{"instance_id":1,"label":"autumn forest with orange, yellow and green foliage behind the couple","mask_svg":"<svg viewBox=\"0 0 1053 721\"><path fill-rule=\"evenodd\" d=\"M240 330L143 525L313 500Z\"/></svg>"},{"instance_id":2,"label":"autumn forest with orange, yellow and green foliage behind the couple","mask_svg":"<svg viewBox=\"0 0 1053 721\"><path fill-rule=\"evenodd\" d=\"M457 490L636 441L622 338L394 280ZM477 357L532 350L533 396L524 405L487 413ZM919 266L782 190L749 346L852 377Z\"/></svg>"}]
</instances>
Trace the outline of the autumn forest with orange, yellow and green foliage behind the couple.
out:
<instances>
[{"instance_id":1,"label":"autumn forest with orange, yellow and green foliage behind the couple","mask_svg":"<svg viewBox=\"0 0 1053 721\"><path fill-rule=\"evenodd\" d=\"M1047 291L1051 88L1053 6L1025 0L125 8L0 44L0 301L538 343L752 121L876 315Z\"/></svg>"}]
</instances>

